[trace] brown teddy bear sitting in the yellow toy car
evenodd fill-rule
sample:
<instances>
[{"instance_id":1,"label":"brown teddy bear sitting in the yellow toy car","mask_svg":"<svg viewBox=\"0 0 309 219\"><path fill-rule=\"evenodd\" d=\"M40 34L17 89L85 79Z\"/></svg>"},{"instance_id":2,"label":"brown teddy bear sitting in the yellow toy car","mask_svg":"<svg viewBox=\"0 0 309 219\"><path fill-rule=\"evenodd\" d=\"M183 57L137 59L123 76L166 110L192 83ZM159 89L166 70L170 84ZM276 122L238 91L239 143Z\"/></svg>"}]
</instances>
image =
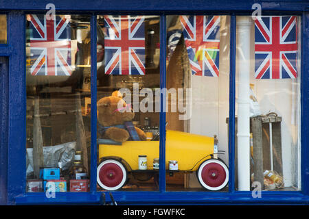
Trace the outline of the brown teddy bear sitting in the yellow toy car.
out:
<instances>
[{"instance_id":1,"label":"brown teddy bear sitting in the yellow toy car","mask_svg":"<svg viewBox=\"0 0 309 219\"><path fill-rule=\"evenodd\" d=\"M115 142L126 142L127 140L147 139L146 133L133 126L135 113L130 105L122 99L119 91L113 92L111 96L105 96L97 103L98 110L98 134L104 139Z\"/></svg>"}]
</instances>

